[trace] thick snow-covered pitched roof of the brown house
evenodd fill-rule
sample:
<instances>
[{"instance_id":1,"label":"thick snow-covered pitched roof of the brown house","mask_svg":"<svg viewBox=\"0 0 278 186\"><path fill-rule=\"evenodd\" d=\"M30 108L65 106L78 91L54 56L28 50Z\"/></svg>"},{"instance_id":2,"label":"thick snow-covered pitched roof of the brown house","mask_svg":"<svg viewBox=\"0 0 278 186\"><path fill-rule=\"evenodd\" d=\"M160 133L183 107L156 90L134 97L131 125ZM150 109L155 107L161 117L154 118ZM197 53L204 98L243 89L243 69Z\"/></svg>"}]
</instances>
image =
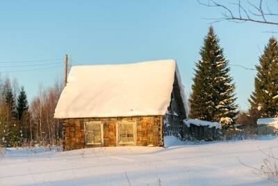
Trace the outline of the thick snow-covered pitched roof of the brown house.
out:
<instances>
[{"instance_id":1,"label":"thick snow-covered pitched roof of the brown house","mask_svg":"<svg viewBox=\"0 0 278 186\"><path fill-rule=\"evenodd\" d=\"M170 104L174 60L118 65L79 65L70 70L55 118L163 116ZM184 109L187 101L181 87Z\"/></svg>"}]
</instances>

